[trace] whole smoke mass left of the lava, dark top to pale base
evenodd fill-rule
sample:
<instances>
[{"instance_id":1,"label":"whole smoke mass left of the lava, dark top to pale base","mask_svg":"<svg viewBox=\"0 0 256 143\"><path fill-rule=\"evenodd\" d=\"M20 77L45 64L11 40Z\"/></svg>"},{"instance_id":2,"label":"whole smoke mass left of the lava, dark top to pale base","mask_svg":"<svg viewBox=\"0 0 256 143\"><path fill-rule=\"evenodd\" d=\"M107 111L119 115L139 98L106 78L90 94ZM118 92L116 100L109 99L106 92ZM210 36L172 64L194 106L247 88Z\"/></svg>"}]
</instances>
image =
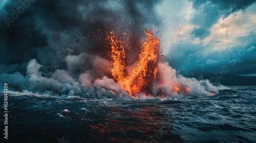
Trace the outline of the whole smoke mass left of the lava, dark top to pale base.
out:
<instances>
[{"instance_id":1,"label":"whole smoke mass left of the lava, dark top to pale base","mask_svg":"<svg viewBox=\"0 0 256 143\"><path fill-rule=\"evenodd\" d=\"M141 35L142 29L157 21L147 15L154 15L151 10L157 3L35 1L8 28L4 17L11 18L11 9L16 11L21 4L7 1L0 14L1 83L8 83L14 91L38 94L125 95L120 85L108 78L111 63L106 60L110 47L105 43L105 28L129 29L131 34Z\"/></svg>"}]
</instances>

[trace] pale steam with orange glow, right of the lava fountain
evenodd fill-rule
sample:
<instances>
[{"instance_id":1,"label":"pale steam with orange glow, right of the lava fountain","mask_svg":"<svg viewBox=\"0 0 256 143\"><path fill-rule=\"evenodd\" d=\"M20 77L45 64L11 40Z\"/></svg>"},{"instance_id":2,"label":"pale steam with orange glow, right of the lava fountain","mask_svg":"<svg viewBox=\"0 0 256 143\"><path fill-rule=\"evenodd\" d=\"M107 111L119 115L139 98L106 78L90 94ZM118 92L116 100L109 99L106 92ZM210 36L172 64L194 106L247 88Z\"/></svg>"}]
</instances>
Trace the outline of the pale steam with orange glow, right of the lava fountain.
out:
<instances>
[{"instance_id":1,"label":"pale steam with orange glow, right of the lava fountain","mask_svg":"<svg viewBox=\"0 0 256 143\"><path fill-rule=\"evenodd\" d=\"M155 93L162 93L165 96L182 96L184 93L187 96L209 96L210 93L218 92L218 90L226 89L225 86L219 85L214 86L209 80L198 81L195 78L185 78L180 74L176 74L177 71L169 66L168 62L161 62L158 64L158 70L161 75L161 84L157 85L159 88L155 89ZM183 93L179 93L174 90L173 87L185 88L179 89L183 90ZM185 91L186 87L188 88Z\"/></svg>"}]
</instances>

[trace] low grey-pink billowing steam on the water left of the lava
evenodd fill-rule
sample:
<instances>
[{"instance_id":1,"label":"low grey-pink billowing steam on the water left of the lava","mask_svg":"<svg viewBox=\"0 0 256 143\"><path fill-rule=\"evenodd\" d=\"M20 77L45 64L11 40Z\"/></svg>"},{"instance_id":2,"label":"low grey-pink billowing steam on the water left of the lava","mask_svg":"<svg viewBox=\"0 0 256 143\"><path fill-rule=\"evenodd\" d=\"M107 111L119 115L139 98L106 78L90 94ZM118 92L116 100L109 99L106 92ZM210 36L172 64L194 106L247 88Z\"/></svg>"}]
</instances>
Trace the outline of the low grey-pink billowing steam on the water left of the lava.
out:
<instances>
[{"instance_id":1,"label":"low grey-pink billowing steam on the water left of the lava","mask_svg":"<svg viewBox=\"0 0 256 143\"><path fill-rule=\"evenodd\" d=\"M74 76L76 69L83 64L84 59L91 60L91 66ZM68 69L56 69L49 77L43 76L39 71L40 65L35 59L29 61L27 75L23 77L27 81L24 91L32 91L38 95L50 96L79 96L87 98L113 98L124 97L127 93L113 79L104 75L110 67L110 62L98 56L80 54L78 56L68 56L66 58ZM9 75L13 76L13 75ZM24 84L24 83L20 83ZM26 86L26 87L25 87ZM126 96L127 97L127 96Z\"/></svg>"}]
</instances>

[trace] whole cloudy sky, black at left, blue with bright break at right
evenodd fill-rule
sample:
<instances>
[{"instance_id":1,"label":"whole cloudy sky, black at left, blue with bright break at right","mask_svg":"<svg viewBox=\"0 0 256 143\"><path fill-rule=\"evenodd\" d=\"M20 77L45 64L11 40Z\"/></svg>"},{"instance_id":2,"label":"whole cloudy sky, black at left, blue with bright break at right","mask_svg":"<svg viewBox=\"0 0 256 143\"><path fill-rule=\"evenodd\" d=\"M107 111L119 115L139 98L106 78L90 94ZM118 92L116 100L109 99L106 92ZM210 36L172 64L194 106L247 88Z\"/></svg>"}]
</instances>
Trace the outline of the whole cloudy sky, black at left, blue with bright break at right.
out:
<instances>
[{"instance_id":1,"label":"whole cloudy sky, black at left, blue with bright break at right","mask_svg":"<svg viewBox=\"0 0 256 143\"><path fill-rule=\"evenodd\" d=\"M12 18L12 9L17 11L19 6L22 4L16 0L0 2L0 79L2 83L15 80L17 88L26 88L23 83L28 80L27 66L32 59L44 67L54 61L57 69L76 74L90 68L93 59L75 63L65 59L67 55L105 58L110 48L104 41L105 27L129 29L141 38L144 30L152 28L166 61L185 76L212 73L223 66L227 74L256 76L255 1L36 0L9 21L8 27L7 17ZM65 50L75 34L87 38L73 51ZM132 45L138 41L140 38L134 38ZM40 67L40 71L44 69Z\"/></svg>"}]
</instances>

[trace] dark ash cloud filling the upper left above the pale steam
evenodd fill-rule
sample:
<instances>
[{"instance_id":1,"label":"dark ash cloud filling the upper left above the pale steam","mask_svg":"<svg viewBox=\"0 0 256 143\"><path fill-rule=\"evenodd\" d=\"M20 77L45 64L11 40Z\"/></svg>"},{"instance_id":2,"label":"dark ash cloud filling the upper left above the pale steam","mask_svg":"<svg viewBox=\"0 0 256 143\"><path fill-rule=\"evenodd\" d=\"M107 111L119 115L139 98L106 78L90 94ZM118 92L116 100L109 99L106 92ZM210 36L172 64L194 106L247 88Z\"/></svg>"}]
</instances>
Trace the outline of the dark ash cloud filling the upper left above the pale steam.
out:
<instances>
[{"instance_id":1,"label":"dark ash cloud filling the upper left above the pale steam","mask_svg":"<svg viewBox=\"0 0 256 143\"><path fill-rule=\"evenodd\" d=\"M20 14L15 22L8 28L5 21L1 20L1 53L5 53L1 64L13 65L28 63L36 59L44 65L56 57L56 53L62 48L67 48L72 43L74 34L81 33L88 37L72 53L78 55L82 52L95 54L104 53L108 47L104 46L104 26L118 28L127 25L136 27L132 32L138 34L139 28L144 28L147 18L142 16L153 9L155 1L35 1ZM11 9L21 5L18 1L9 0L2 7L1 17L11 17ZM144 9L145 12L141 12ZM153 12L151 12L153 13ZM123 16L120 16L123 15ZM129 23L131 22L131 24ZM99 41L99 37L101 40ZM60 61L58 58L56 60ZM65 63L61 67L66 68ZM24 70L16 69L22 74ZM12 73L8 70L2 73Z\"/></svg>"}]
</instances>

